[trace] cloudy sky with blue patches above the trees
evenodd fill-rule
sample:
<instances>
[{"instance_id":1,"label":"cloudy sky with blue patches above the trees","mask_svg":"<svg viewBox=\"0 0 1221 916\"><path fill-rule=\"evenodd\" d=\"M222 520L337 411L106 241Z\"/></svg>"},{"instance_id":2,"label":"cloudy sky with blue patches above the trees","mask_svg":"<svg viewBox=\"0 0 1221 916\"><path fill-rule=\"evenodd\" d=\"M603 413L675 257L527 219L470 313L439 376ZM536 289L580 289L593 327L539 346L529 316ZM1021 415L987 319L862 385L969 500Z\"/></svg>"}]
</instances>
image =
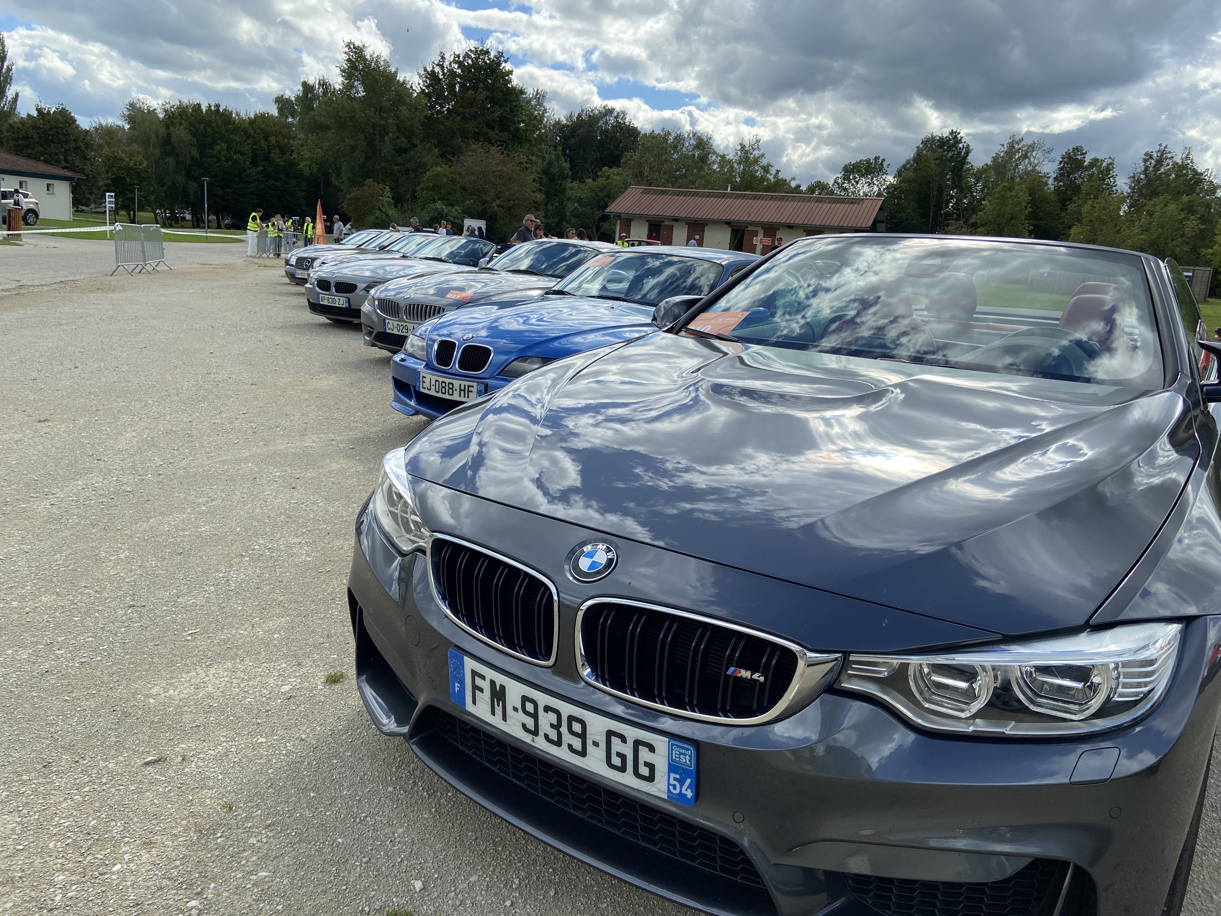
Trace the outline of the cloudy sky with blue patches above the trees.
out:
<instances>
[{"instance_id":1,"label":"cloudy sky with blue patches above the trees","mask_svg":"<svg viewBox=\"0 0 1221 916\"><path fill-rule=\"evenodd\" d=\"M1195 0L0 0L21 109L87 123L134 96L271 109L332 75L344 39L414 72L503 48L558 112L608 101L642 127L750 134L786 175L891 170L957 127L1082 143L1122 173L1158 143L1221 167L1221 4Z\"/></svg>"}]
</instances>

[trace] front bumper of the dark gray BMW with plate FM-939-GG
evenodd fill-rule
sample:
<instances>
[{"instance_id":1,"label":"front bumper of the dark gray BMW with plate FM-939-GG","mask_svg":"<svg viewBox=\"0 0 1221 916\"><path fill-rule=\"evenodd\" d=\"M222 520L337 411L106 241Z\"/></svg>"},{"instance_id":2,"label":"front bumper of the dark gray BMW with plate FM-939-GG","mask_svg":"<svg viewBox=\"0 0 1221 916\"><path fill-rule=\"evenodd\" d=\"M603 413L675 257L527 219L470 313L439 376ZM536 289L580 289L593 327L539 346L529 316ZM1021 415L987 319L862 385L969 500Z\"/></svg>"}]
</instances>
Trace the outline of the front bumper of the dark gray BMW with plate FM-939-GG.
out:
<instances>
[{"instance_id":1,"label":"front bumper of the dark gray BMW with plate FM-939-GG","mask_svg":"<svg viewBox=\"0 0 1221 916\"><path fill-rule=\"evenodd\" d=\"M546 557L557 551L563 557L570 545L598 535L559 522L540 523L530 513L435 485L420 484L416 496L426 522L453 519L451 525L462 526L453 534L470 539L479 531L477 540L491 550L542 572ZM620 547L623 567L642 570L640 585L661 603L690 606L692 581L736 580L756 594L763 585L761 576L668 551L629 542ZM590 597L585 592L591 586L560 575L552 580L562 607L553 668L516 661L453 624L432 596L426 559L400 557L364 509L348 592L358 686L375 724L407 736L442 778L543 841L716 914L797 916L834 906L836 914L877 916L862 903L869 882L1004 882L1032 859L1051 860L1048 867L1061 868L1061 883L1067 866L1057 863L1074 867L1066 898L1072 906L1061 909L1061 916L1090 912L1095 894L1100 916L1160 912L1215 732L1221 686L1209 650L1221 644L1221 618L1189 623L1171 688L1148 718L1088 740L934 735L910 728L867 699L834 690L780 722L735 728L657 713L582 682L573 661L573 629L576 607ZM810 592L774 581L762 590L779 601ZM623 596L642 597L635 587ZM491 736L451 701L452 646L540 691L697 743L701 789L694 809L636 798L631 789L573 772L600 798L620 799L620 813L636 811L631 823L669 818L665 823L676 822L692 835L714 835L717 843L744 850L756 877L734 879L707 863L665 855L647 837L634 835L640 829L628 817L598 821L589 806L574 811L545 793L547 802L541 804L538 787L556 780L530 782L520 767L514 769L514 760L527 769L537 763L529 745ZM1121 751L1112 777L1072 784L1081 755L1099 747ZM565 779L571 776L548 766L563 771Z\"/></svg>"}]
</instances>

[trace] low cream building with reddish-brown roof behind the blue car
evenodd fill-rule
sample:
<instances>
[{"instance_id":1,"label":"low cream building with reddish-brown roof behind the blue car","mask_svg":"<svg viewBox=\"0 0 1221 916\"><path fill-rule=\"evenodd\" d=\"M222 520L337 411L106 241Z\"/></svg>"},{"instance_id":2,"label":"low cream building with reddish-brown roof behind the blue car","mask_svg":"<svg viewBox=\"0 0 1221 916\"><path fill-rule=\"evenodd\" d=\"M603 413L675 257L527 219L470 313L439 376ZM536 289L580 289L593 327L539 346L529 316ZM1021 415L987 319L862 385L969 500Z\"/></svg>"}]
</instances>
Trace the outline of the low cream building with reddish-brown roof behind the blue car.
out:
<instances>
[{"instance_id":1,"label":"low cream building with reddish-brown roof behind the blue car","mask_svg":"<svg viewBox=\"0 0 1221 916\"><path fill-rule=\"evenodd\" d=\"M767 254L778 244L824 232L885 232L880 197L758 194L746 191L632 186L606 209L615 237L662 244Z\"/></svg>"}]
</instances>

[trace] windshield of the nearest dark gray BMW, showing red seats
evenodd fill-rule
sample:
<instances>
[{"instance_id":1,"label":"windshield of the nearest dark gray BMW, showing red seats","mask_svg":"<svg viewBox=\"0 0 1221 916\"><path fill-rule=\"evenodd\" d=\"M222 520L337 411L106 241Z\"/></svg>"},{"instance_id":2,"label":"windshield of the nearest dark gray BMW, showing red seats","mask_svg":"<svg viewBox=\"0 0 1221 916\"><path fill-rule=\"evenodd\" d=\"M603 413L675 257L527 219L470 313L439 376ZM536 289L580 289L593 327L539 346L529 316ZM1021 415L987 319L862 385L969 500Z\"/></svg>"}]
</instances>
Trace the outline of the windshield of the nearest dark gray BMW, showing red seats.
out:
<instances>
[{"instance_id":1,"label":"windshield of the nearest dark gray BMW, showing red seats","mask_svg":"<svg viewBox=\"0 0 1221 916\"><path fill-rule=\"evenodd\" d=\"M1156 388L1137 255L968 239L799 243L689 326L742 343Z\"/></svg>"}]
</instances>

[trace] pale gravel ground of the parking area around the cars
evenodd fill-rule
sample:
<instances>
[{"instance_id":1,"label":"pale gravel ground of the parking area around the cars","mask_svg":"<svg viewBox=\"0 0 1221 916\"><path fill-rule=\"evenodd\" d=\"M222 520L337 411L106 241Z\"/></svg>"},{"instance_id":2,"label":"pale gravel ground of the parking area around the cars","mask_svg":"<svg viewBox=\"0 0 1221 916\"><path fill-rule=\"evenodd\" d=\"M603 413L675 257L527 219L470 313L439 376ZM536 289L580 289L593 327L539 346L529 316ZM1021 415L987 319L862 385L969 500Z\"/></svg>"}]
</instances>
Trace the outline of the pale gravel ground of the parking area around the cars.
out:
<instances>
[{"instance_id":1,"label":"pale gravel ground of the parking area around the cars","mask_svg":"<svg viewBox=\"0 0 1221 916\"><path fill-rule=\"evenodd\" d=\"M0 911L689 912L369 723L352 525L424 427L387 354L275 263L15 291L0 321ZM1221 909L1217 782L1192 916Z\"/></svg>"}]
</instances>

